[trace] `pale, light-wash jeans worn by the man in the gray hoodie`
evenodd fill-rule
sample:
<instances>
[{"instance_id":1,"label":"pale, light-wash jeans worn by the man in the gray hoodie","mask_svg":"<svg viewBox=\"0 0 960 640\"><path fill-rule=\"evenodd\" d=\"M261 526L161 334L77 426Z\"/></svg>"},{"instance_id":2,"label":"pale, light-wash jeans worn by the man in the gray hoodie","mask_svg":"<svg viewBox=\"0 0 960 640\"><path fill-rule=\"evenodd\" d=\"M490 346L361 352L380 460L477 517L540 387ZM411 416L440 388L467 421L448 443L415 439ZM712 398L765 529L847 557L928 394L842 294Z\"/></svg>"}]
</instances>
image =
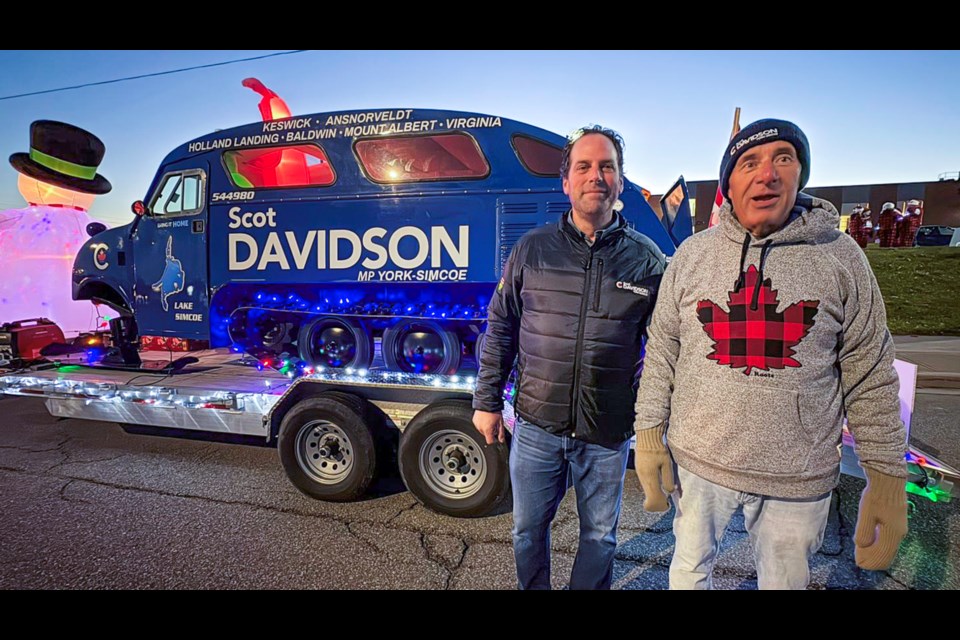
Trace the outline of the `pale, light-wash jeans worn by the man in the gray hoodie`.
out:
<instances>
[{"instance_id":1,"label":"pale, light-wash jeans worn by the man in the gray hoodie","mask_svg":"<svg viewBox=\"0 0 960 640\"><path fill-rule=\"evenodd\" d=\"M720 540L734 512L743 517L757 564L761 589L806 589L810 556L823 543L830 496L773 498L713 484L679 469L679 499L673 533L677 545L670 563L671 589L712 589Z\"/></svg>"}]
</instances>

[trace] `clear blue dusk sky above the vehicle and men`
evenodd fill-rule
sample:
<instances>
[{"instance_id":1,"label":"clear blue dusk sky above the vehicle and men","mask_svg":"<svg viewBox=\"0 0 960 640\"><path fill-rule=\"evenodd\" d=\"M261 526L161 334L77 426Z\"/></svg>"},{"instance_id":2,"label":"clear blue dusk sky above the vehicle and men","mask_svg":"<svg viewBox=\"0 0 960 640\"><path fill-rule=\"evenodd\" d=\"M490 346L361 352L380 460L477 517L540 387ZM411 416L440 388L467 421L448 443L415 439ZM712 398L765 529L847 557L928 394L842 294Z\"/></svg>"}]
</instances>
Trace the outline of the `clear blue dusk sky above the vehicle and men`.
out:
<instances>
[{"instance_id":1,"label":"clear blue dusk sky above the vehicle and men","mask_svg":"<svg viewBox=\"0 0 960 640\"><path fill-rule=\"evenodd\" d=\"M741 124L792 120L811 146L810 186L922 182L960 171L960 52L307 51L59 89L276 51L0 52L0 154L29 150L30 123L61 120L106 144L113 191L91 215L132 218L163 157L260 119L256 77L295 115L433 108L557 133L600 123L626 140L626 176L654 193L683 174L716 179L735 107ZM0 171L0 210L25 206Z\"/></svg>"}]
</instances>

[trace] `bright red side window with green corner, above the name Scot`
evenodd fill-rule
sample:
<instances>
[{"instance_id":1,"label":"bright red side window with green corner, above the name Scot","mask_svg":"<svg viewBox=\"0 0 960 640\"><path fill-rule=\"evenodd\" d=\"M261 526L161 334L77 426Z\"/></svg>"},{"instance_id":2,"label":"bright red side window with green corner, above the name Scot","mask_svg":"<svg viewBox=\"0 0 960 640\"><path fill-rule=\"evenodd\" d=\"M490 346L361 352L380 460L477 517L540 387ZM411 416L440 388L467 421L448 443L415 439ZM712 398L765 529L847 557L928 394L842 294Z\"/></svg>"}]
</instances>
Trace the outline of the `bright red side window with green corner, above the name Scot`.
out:
<instances>
[{"instance_id":1,"label":"bright red side window with green corner, above the name Scot","mask_svg":"<svg viewBox=\"0 0 960 640\"><path fill-rule=\"evenodd\" d=\"M240 189L327 187L337 180L326 152L310 144L225 151L223 164Z\"/></svg>"}]
</instances>

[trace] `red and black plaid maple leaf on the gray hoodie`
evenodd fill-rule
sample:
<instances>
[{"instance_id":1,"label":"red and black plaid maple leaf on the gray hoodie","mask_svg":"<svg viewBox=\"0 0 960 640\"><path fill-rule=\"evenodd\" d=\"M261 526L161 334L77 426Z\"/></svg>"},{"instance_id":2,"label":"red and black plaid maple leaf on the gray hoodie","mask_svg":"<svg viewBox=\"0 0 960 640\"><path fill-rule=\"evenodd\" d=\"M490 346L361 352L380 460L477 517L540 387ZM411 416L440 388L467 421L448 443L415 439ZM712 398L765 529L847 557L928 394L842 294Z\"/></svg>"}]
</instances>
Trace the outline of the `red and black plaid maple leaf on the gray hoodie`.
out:
<instances>
[{"instance_id":1,"label":"red and black plaid maple leaf on the gray hoodie","mask_svg":"<svg viewBox=\"0 0 960 640\"><path fill-rule=\"evenodd\" d=\"M746 367L744 375L750 375L754 369L769 371L799 367L800 363L793 358L796 355L794 347L813 326L820 301L802 300L778 312L780 303L770 278L762 283L758 283L758 279L757 268L750 265L745 285L728 294L729 312L710 300L697 303L697 319L714 341L713 351L707 354L707 359L732 369ZM758 284L757 306L751 309L750 303Z\"/></svg>"}]
</instances>

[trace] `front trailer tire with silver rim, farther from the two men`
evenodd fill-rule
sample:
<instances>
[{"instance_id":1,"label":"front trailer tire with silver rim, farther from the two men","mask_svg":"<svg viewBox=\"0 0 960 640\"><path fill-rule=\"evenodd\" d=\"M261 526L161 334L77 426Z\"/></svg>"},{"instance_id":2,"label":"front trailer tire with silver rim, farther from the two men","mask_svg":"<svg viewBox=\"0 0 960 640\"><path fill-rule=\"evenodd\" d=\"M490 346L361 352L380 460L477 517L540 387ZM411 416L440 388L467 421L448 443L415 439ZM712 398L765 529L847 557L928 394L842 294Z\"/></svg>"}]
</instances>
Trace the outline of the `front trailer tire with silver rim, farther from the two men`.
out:
<instances>
[{"instance_id":1,"label":"front trailer tire with silver rim, farther from the two men","mask_svg":"<svg viewBox=\"0 0 960 640\"><path fill-rule=\"evenodd\" d=\"M337 396L310 398L287 412L280 423L277 449L293 484L320 500L359 498L373 481L377 466L373 435L363 421L362 409L358 411L354 400Z\"/></svg>"}]
</instances>

